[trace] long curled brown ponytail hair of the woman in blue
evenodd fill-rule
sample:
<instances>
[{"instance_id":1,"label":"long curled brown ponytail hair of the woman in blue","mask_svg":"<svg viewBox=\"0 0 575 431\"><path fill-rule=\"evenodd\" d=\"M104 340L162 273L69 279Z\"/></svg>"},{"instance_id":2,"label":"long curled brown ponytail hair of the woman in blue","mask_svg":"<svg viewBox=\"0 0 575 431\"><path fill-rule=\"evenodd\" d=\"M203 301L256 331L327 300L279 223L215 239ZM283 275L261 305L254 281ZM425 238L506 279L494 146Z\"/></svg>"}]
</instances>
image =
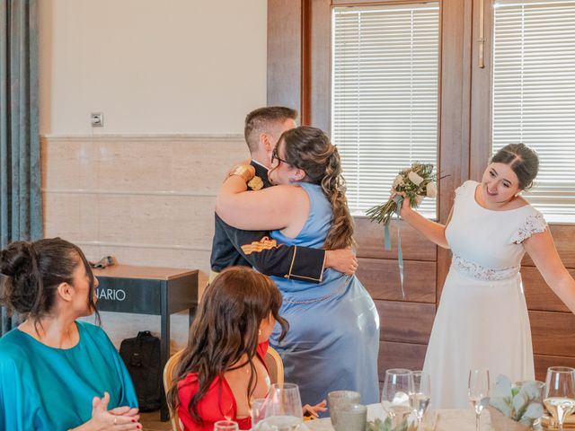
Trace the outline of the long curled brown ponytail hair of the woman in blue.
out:
<instances>
[{"instance_id":1,"label":"long curled brown ponytail hair of the woman in blue","mask_svg":"<svg viewBox=\"0 0 575 431\"><path fill-rule=\"evenodd\" d=\"M322 186L332 204L332 227L323 243L325 249L342 249L354 244L353 218L345 197L345 180L341 176L338 149L319 128L301 126L283 133L286 162L303 170L307 180ZM279 145L279 144L278 144Z\"/></svg>"}]
</instances>

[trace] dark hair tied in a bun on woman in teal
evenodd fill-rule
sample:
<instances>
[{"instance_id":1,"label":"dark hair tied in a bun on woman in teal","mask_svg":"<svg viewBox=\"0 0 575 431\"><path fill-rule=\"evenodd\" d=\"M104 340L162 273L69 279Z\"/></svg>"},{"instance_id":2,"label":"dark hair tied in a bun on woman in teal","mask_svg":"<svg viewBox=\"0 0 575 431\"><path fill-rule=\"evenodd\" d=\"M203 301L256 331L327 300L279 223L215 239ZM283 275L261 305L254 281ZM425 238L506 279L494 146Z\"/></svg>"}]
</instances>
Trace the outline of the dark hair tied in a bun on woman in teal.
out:
<instances>
[{"instance_id":1,"label":"dark hair tied in a bun on woman in teal","mask_svg":"<svg viewBox=\"0 0 575 431\"><path fill-rule=\"evenodd\" d=\"M57 286L61 283L73 285L78 265L84 265L90 277L86 301L99 319L93 302L92 268L78 246L61 238L16 241L0 251L0 273L6 276L0 303L11 312L18 312L37 323L52 312Z\"/></svg>"}]
</instances>

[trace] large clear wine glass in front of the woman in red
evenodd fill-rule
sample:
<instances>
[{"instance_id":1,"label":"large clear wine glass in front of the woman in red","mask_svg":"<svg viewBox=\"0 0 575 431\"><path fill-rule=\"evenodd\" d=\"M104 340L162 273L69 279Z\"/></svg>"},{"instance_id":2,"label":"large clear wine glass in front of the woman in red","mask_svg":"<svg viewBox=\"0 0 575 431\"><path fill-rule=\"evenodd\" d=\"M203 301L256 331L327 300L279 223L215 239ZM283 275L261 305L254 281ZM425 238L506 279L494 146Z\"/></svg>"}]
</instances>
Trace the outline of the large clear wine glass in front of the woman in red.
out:
<instances>
[{"instance_id":1,"label":"large clear wine glass in front of the woman in red","mask_svg":"<svg viewBox=\"0 0 575 431\"><path fill-rule=\"evenodd\" d=\"M295 431L304 421L299 388L294 383L274 383L268 393L265 423L274 431Z\"/></svg>"}]
</instances>

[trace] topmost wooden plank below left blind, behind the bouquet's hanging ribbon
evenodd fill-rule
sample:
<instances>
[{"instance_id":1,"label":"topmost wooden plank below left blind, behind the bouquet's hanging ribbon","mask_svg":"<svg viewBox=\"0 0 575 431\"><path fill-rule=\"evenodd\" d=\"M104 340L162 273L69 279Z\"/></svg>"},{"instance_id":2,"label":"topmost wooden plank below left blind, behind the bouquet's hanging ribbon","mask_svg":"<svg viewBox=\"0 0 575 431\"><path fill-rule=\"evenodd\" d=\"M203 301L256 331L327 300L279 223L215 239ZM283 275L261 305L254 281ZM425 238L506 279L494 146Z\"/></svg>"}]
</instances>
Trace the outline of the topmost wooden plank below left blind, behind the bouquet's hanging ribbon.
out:
<instances>
[{"instance_id":1,"label":"topmost wooden plank below left blind, behind the bouquet's hanging ribbon","mask_svg":"<svg viewBox=\"0 0 575 431\"><path fill-rule=\"evenodd\" d=\"M359 258L397 259L397 221L390 224L392 250L384 250L384 226L370 222L366 217L355 217ZM405 260L435 260L437 247L433 242L404 221L399 222L402 234L402 251Z\"/></svg>"}]
</instances>

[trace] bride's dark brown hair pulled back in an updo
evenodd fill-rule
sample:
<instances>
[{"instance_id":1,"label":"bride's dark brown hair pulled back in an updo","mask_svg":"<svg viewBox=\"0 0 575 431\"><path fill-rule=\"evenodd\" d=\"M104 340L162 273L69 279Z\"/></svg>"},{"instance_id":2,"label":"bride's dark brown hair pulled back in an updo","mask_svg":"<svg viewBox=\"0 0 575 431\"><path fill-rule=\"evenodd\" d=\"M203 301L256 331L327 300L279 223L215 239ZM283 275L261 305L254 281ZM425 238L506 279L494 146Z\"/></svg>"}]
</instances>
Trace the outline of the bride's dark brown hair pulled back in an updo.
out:
<instances>
[{"instance_id":1,"label":"bride's dark brown hair pulled back in an updo","mask_svg":"<svg viewBox=\"0 0 575 431\"><path fill-rule=\"evenodd\" d=\"M509 144L500 149L491 163L509 164L519 180L519 189L528 190L539 172L539 157L525 144Z\"/></svg>"}]
</instances>

